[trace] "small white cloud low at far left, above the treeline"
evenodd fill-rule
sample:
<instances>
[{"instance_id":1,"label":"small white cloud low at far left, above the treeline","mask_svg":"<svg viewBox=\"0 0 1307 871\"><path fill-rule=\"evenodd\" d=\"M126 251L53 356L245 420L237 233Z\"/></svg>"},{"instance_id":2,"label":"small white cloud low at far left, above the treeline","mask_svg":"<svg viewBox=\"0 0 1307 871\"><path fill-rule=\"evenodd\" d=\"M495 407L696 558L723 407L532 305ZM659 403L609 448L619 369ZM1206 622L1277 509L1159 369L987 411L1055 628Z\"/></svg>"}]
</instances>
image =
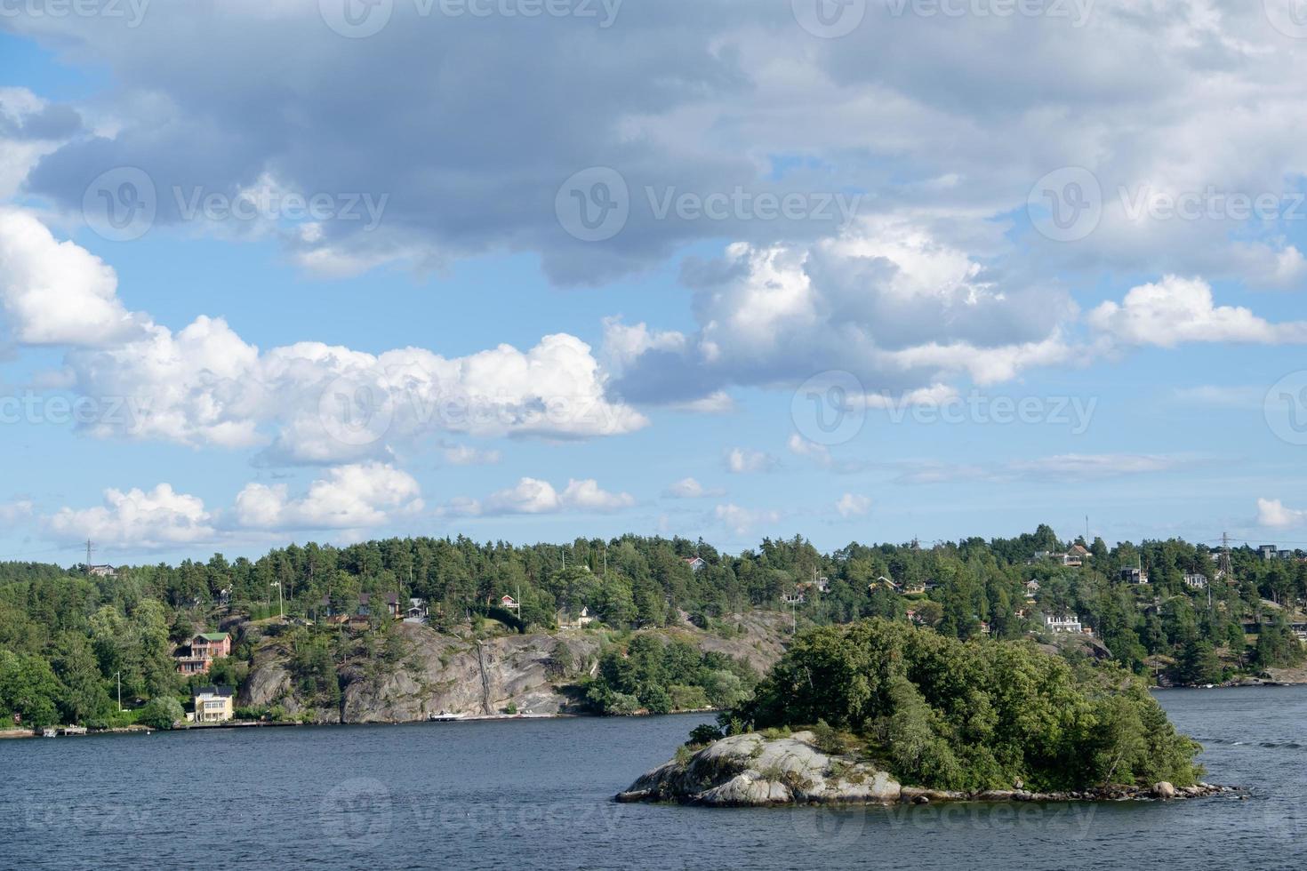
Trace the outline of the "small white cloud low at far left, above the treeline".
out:
<instances>
[{"instance_id":1,"label":"small white cloud low at far left, above the treeline","mask_svg":"<svg viewBox=\"0 0 1307 871\"><path fill-rule=\"evenodd\" d=\"M210 541L212 516L199 496L179 494L170 484L154 490L106 490L95 508L61 508L46 518L56 538L90 538L106 546L165 547Z\"/></svg>"}]
</instances>

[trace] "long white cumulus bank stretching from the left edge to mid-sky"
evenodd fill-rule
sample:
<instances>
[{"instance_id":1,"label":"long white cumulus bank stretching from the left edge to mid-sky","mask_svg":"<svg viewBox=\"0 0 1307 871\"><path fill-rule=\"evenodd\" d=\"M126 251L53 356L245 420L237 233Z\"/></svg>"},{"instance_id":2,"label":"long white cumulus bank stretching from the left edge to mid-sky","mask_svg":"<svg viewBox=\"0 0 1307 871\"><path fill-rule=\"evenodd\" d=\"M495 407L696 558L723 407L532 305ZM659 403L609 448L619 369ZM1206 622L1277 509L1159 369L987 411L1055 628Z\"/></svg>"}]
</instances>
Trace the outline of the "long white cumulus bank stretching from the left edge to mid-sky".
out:
<instances>
[{"instance_id":1,"label":"long white cumulus bank stretching from the left edge to mid-sky","mask_svg":"<svg viewBox=\"0 0 1307 871\"><path fill-rule=\"evenodd\" d=\"M174 332L127 312L112 269L18 210L0 212L0 303L18 341L68 349L60 387L131 409L86 423L97 436L261 445L265 462L332 465L438 434L569 439L648 423L608 398L589 346L562 333L447 358L322 342L260 350L205 315Z\"/></svg>"}]
</instances>

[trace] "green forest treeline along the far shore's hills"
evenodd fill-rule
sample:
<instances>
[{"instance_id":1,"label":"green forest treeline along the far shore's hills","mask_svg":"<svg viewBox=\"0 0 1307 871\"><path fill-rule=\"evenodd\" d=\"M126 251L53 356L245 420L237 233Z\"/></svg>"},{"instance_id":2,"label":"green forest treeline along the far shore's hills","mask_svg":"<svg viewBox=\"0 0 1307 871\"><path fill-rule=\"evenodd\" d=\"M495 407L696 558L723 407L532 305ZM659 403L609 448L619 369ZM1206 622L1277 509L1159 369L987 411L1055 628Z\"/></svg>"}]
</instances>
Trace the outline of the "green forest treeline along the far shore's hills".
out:
<instances>
[{"instance_id":1,"label":"green forest treeline along the far shore's hills","mask_svg":"<svg viewBox=\"0 0 1307 871\"><path fill-rule=\"evenodd\" d=\"M1081 542L1091 554L1082 568L1027 564L1038 552L1073 543L1059 541L1048 526L1010 539L851 543L831 554L797 535L765 539L737 555L685 538L514 546L457 537L290 545L255 560L214 554L207 562L124 567L103 577L88 576L81 565L3 563L0 714L24 714L29 723L112 721L119 678L124 706L179 693L187 682L174 671L175 645L195 631L217 628L222 615L276 614L278 585L288 616L319 620L327 609L357 607L359 593L395 593L401 602L425 599L438 631L489 612L506 594L520 602L515 627L546 629L561 612L575 616L583 607L617 629L680 624L684 612L701 627L723 631L729 615L753 609L792 607L796 622L816 624L869 616L902 622L912 609L919 622L948 637L971 639L988 629L1016 639L1039 632L1043 612L1076 612L1136 673L1157 671L1163 657L1178 679L1206 683L1231 669L1300 661L1287 616L1307 598L1307 564L1263 560L1242 547L1230 554L1231 573L1218 576L1216 548L1174 539L1114 548L1095 539ZM687 562L695 556L703 560L699 571ZM1121 569L1134 567L1150 575L1150 585L1121 580ZM1183 578L1192 573L1206 576L1208 588L1188 588ZM881 577L929 592L902 595L878 584ZM1034 605L1026 593L1030 580L1040 584ZM826 592L818 593L822 586ZM799 593L802 603L783 601ZM1257 629L1252 646L1246 645L1246 624ZM204 679L238 680L250 656L237 649L231 662ZM297 673L325 697L327 657L315 656L315 662L297 663ZM657 693L617 692L635 696L643 708L661 704Z\"/></svg>"}]
</instances>

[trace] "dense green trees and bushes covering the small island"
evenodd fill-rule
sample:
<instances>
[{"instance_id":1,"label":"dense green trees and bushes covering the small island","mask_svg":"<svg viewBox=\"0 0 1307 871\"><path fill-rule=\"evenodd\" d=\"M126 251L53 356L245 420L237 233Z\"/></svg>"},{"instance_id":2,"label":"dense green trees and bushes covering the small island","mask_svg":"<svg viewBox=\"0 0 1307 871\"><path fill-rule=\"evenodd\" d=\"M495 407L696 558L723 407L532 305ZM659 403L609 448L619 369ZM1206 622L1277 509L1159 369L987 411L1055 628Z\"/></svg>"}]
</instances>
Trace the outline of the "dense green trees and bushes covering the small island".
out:
<instances>
[{"instance_id":1,"label":"dense green trees and bushes covering the small island","mask_svg":"<svg viewBox=\"0 0 1307 871\"><path fill-rule=\"evenodd\" d=\"M1197 744L1124 671L1077 673L1029 644L963 644L884 619L801 633L737 716L818 723L827 739L856 733L904 782L940 789L1183 786L1200 774Z\"/></svg>"}]
</instances>

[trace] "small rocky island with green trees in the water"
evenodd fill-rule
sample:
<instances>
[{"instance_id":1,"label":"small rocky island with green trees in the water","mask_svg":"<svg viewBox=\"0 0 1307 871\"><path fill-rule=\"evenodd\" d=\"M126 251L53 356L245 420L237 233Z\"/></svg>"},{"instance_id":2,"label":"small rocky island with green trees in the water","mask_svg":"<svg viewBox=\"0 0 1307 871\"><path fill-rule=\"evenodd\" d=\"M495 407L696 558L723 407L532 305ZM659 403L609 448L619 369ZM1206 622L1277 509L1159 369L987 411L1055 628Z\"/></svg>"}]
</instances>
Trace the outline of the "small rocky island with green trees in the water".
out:
<instances>
[{"instance_id":1,"label":"small rocky island with green trees in the water","mask_svg":"<svg viewBox=\"0 0 1307 871\"><path fill-rule=\"evenodd\" d=\"M724 730L698 727L617 800L758 807L1234 791L1199 780L1201 748L1119 669L886 620L800 635L753 700L720 721Z\"/></svg>"}]
</instances>

